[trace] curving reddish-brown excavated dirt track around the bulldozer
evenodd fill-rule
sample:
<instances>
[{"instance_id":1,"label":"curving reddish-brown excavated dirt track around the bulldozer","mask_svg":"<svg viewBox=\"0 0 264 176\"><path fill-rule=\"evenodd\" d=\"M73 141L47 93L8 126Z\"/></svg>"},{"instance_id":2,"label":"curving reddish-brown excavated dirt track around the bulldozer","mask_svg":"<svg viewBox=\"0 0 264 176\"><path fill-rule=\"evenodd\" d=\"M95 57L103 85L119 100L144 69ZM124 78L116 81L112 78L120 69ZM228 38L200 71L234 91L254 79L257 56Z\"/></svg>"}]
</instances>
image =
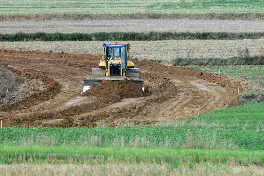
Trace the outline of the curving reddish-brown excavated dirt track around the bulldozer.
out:
<instances>
[{"instance_id":1,"label":"curving reddish-brown excavated dirt track around the bulldozer","mask_svg":"<svg viewBox=\"0 0 264 176\"><path fill-rule=\"evenodd\" d=\"M91 77L100 59L86 54L1 50L1 65L35 82L32 94L0 108L3 126L114 127L186 120L197 114L199 106L200 113L237 106L237 86L247 91L239 81L200 70L132 60L140 68L147 93L139 89L139 94L130 96L129 89L120 94L107 86L93 86L93 91L81 96L83 78ZM97 90L109 90L109 94Z\"/></svg>"}]
</instances>

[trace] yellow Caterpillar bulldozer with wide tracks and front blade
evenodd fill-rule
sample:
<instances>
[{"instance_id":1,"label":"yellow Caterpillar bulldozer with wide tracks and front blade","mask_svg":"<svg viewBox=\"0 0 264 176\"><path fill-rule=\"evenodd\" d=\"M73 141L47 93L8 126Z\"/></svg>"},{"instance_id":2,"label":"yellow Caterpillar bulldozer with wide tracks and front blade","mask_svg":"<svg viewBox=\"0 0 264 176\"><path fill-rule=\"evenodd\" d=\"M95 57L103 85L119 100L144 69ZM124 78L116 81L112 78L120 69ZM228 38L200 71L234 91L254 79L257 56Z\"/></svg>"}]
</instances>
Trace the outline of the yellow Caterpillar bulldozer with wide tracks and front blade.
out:
<instances>
[{"instance_id":1,"label":"yellow Caterpillar bulldozer with wide tracks and front blade","mask_svg":"<svg viewBox=\"0 0 264 176\"><path fill-rule=\"evenodd\" d=\"M140 69L134 68L130 60L130 43L103 43L103 57L98 68L92 69L92 77L83 79L83 92L92 85L101 85L103 80L121 81L125 78L135 82L144 91L144 80L140 79Z\"/></svg>"}]
</instances>

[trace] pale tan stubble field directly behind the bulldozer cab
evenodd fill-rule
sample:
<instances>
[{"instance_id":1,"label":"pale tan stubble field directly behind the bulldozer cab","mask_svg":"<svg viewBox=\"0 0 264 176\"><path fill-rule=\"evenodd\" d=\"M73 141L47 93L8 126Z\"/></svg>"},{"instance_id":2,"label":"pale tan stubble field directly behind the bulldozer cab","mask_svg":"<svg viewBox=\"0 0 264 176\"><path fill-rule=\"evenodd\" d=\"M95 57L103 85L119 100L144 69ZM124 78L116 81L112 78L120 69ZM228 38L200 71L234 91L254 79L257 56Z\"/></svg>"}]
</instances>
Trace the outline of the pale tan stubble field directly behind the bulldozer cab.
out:
<instances>
[{"instance_id":1,"label":"pale tan stubble field directly behind the bulldozer cab","mask_svg":"<svg viewBox=\"0 0 264 176\"><path fill-rule=\"evenodd\" d=\"M1 49L39 50L67 53L89 53L101 55L102 44L113 41L87 42L0 42ZM118 41L121 42L121 41ZM129 41L132 44L131 57L170 62L176 57L187 58L229 58L238 56L238 47L248 47L251 56L258 55L264 40L185 40L185 41Z\"/></svg>"}]
</instances>

